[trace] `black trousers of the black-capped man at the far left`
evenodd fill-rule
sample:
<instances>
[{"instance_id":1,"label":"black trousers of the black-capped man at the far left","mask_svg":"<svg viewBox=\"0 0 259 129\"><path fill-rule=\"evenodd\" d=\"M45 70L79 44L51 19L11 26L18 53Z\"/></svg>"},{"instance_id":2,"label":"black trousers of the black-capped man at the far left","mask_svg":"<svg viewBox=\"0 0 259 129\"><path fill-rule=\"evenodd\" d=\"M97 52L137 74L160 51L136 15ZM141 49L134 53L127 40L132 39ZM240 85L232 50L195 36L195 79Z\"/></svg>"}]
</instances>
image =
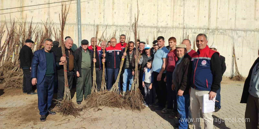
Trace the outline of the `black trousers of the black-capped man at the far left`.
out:
<instances>
[{"instance_id":1,"label":"black trousers of the black-capped man at the far left","mask_svg":"<svg viewBox=\"0 0 259 129\"><path fill-rule=\"evenodd\" d=\"M23 92L27 92L28 94L33 92L32 91L32 84L31 84L31 69L22 69L23 71Z\"/></svg>"}]
</instances>

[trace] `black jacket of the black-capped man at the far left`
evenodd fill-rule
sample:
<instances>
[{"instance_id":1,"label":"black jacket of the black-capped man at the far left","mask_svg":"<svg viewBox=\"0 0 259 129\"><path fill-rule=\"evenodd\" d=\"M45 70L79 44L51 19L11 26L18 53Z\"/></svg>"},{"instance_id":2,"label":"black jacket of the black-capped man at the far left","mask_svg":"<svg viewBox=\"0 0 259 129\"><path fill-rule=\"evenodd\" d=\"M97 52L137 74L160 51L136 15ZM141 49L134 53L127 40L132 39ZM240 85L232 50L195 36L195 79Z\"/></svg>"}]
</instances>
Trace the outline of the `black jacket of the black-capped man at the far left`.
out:
<instances>
[{"instance_id":1,"label":"black jacket of the black-capped man at the far left","mask_svg":"<svg viewBox=\"0 0 259 129\"><path fill-rule=\"evenodd\" d=\"M31 67L31 61L32 61L32 50L27 45L24 45L21 47L20 54L19 54L19 60L21 62L20 67L21 68L30 68Z\"/></svg>"}]
</instances>

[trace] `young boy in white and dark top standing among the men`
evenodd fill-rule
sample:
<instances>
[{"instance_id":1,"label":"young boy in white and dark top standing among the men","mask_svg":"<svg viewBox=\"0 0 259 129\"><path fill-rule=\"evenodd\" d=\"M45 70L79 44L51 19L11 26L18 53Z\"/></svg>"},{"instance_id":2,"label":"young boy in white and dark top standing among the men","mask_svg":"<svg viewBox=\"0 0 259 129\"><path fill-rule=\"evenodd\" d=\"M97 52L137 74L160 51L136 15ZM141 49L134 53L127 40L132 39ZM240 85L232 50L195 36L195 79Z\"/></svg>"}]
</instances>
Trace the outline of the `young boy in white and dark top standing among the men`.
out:
<instances>
[{"instance_id":1,"label":"young boy in white and dark top standing among the men","mask_svg":"<svg viewBox=\"0 0 259 129\"><path fill-rule=\"evenodd\" d=\"M152 105L152 83L153 83L153 75L152 75L152 60L147 61L147 69L144 72L142 78L142 86L145 88L145 106L149 107Z\"/></svg>"}]
</instances>

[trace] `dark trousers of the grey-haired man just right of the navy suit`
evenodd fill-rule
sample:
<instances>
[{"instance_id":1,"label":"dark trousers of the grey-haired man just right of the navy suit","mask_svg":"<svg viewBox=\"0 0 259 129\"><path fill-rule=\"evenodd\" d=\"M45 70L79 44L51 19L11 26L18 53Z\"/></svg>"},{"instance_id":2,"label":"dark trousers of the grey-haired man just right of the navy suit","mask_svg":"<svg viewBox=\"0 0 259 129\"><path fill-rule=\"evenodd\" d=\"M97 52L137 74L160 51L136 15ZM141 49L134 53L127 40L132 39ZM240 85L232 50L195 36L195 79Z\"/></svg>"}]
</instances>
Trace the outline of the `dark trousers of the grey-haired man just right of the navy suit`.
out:
<instances>
[{"instance_id":1,"label":"dark trousers of the grey-haired man just right of the navy suit","mask_svg":"<svg viewBox=\"0 0 259 129\"><path fill-rule=\"evenodd\" d=\"M67 72L67 80L68 80L69 90L72 89L73 77L74 77L73 71ZM64 91L65 91L65 78L64 78L64 76L58 76L58 81L59 81L59 87L58 87L57 100L63 99L63 97L64 97Z\"/></svg>"}]
</instances>

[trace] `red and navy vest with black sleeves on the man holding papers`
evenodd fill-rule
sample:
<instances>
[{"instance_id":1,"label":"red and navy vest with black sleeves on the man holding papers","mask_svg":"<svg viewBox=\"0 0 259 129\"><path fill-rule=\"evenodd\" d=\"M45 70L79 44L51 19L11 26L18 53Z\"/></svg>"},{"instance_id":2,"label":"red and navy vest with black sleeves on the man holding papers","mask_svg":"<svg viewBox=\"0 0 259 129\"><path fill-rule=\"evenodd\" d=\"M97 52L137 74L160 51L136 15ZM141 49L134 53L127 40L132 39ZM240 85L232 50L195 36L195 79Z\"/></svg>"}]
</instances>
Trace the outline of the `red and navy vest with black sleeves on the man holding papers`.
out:
<instances>
[{"instance_id":1,"label":"red and navy vest with black sleeves on the man holding papers","mask_svg":"<svg viewBox=\"0 0 259 129\"><path fill-rule=\"evenodd\" d=\"M192 88L217 92L222 80L220 54L208 46L192 54Z\"/></svg>"}]
</instances>

